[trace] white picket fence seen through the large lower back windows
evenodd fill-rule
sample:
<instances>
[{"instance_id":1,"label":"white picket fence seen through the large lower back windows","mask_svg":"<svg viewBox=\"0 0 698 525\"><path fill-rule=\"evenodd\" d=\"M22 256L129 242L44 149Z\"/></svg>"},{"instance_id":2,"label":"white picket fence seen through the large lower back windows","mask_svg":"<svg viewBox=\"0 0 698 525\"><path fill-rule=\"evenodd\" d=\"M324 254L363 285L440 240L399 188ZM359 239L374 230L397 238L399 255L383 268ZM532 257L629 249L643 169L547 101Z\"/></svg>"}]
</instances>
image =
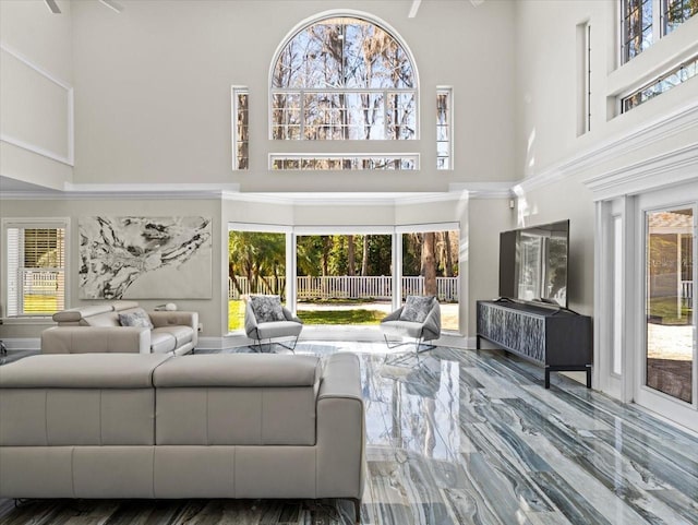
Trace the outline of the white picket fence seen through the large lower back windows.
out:
<instances>
[{"instance_id":1,"label":"white picket fence seen through the large lower back windows","mask_svg":"<svg viewBox=\"0 0 698 525\"><path fill-rule=\"evenodd\" d=\"M236 286L237 283L237 286ZM248 294L284 295L285 277L258 277L252 286L246 277L228 277L228 298L239 299ZM377 299L393 297L393 277L362 277L341 275L336 277L301 276L296 278L298 300L309 299ZM402 297L424 294L424 277L402 277ZM440 301L458 302L458 277L436 277L436 296Z\"/></svg>"}]
</instances>

